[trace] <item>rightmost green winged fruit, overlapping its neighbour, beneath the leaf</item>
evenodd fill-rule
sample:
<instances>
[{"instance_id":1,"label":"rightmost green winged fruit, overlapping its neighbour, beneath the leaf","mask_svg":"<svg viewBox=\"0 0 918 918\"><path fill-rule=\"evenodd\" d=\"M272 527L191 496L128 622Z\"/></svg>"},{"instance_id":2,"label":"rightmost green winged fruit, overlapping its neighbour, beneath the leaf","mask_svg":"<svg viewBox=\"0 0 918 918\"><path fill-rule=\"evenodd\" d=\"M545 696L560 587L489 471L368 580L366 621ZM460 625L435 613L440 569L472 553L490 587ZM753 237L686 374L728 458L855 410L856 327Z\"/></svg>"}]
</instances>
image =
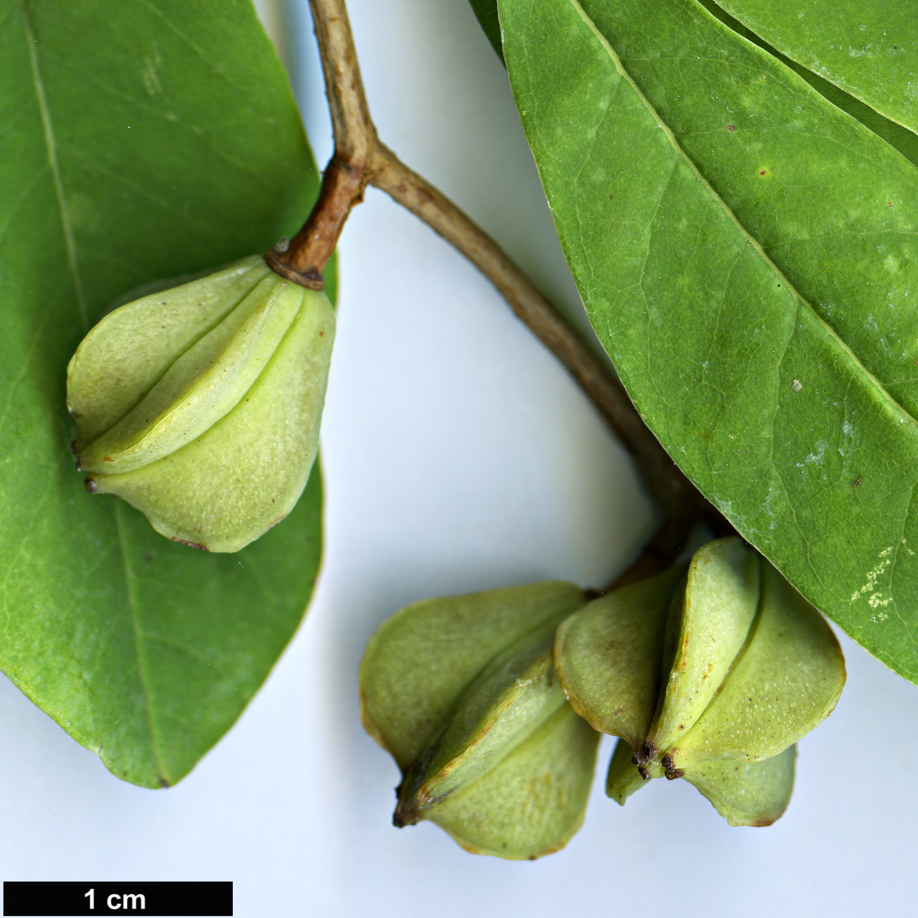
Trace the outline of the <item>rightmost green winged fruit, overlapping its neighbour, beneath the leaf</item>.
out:
<instances>
[{"instance_id":1,"label":"rightmost green winged fruit, overlapping its neighbour, beneath the leaf","mask_svg":"<svg viewBox=\"0 0 918 918\"><path fill-rule=\"evenodd\" d=\"M845 661L823 617L735 537L588 603L558 629L574 709L621 737L607 793L685 778L733 825L773 823L795 746L834 709Z\"/></svg>"}]
</instances>

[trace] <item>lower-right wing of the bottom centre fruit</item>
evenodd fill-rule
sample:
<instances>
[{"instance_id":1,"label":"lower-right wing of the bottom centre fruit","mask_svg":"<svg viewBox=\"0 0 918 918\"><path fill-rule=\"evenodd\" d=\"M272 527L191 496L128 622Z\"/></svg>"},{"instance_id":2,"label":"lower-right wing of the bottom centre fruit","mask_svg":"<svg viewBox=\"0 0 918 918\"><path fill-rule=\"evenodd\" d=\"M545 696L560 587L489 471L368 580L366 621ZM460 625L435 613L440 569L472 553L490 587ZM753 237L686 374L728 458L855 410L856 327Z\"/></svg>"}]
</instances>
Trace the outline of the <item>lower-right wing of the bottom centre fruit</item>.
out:
<instances>
[{"instance_id":1,"label":"lower-right wing of the bottom centre fruit","mask_svg":"<svg viewBox=\"0 0 918 918\"><path fill-rule=\"evenodd\" d=\"M474 854L534 860L559 851L583 824L598 743L564 704L487 775L442 800L431 822Z\"/></svg>"}]
</instances>

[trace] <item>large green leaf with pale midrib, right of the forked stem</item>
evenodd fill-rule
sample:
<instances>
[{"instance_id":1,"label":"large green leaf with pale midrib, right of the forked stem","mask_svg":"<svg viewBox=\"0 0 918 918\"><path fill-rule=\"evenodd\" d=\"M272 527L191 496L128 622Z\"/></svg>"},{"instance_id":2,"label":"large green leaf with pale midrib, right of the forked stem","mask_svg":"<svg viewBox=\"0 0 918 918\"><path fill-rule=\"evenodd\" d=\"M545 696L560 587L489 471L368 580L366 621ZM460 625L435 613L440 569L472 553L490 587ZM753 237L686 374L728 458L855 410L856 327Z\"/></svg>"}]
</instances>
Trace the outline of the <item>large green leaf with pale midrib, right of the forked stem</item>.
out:
<instances>
[{"instance_id":1,"label":"large green leaf with pale midrib, right of the forked stem","mask_svg":"<svg viewBox=\"0 0 918 918\"><path fill-rule=\"evenodd\" d=\"M648 425L918 680L918 173L694 0L500 0L565 254Z\"/></svg>"}]
</instances>

